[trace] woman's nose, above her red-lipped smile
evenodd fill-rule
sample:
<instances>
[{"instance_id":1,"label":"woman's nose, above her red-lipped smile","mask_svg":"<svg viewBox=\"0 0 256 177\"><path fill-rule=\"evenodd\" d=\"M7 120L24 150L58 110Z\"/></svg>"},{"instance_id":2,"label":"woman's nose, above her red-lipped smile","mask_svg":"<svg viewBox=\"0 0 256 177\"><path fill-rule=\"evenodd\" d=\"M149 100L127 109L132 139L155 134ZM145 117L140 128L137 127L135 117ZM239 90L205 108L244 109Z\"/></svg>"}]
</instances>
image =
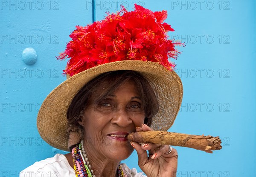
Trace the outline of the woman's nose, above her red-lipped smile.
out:
<instances>
[{"instance_id":1,"label":"woman's nose, above her red-lipped smile","mask_svg":"<svg viewBox=\"0 0 256 177\"><path fill-rule=\"evenodd\" d=\"M111 123L117 124L120 127L126 127L132 123L130 114L124 106L119 106L119 108L113 111Z\"/></svg>"}]
</instances>

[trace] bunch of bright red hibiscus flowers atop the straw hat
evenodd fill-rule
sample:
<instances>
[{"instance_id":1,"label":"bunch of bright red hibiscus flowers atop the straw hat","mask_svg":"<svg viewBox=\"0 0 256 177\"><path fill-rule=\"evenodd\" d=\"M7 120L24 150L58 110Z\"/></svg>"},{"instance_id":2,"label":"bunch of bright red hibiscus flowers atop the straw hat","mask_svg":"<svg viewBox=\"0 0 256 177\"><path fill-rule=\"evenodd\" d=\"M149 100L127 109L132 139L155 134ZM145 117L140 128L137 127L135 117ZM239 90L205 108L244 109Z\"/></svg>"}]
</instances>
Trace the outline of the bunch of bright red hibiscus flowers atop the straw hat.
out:
<instances>
[{"instance_id":1,"label":"bunch of bright red hibiscus flowers atop the straw hat","mask_svg":"<svg viewBox=\"0 0 256 177\"><path fill-rule=\"evenodd\" d=\"M152 61L175 69L175 63L168 59L177 59L181 52L175 46L184 44L168 40L167 32L174 29L163 23L167 11L153 12L134 6L134 11L128 12L121 6L118 13L107 13L102 21L76 26L66 50L57 57L70 58L64 74L73 76L94 66L122 60Z\"/></svg>"}]
</instances>

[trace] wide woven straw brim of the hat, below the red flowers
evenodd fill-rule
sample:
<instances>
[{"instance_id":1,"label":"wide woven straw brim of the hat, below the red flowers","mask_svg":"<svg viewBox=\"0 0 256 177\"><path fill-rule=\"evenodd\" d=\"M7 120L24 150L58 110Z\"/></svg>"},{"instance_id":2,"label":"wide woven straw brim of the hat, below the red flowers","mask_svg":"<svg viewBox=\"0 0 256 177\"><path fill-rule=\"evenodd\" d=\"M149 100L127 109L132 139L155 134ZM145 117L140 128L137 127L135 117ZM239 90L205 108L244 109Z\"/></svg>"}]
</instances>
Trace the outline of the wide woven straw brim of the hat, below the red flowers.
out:
<instances>
[{"instance_id":1,"label":"wide woven straw brim of the hat, below the red flowers","mask_svg":"<svg viewBox=\"0 0 256 177\"><path fill-rule=\"evenodd\" d=\"M143 74L154 89L159 102L159 111L153 117L151 128L168 130L180 109L183 87L175 71L169 71L159 63L140 60L125 60L106 63L87 69L57 86L44 100L38 112L37 127L41 137L49 145L68 150L67 109L85 83L99 74L133 70Z\"/></svg>"}]
</instances>

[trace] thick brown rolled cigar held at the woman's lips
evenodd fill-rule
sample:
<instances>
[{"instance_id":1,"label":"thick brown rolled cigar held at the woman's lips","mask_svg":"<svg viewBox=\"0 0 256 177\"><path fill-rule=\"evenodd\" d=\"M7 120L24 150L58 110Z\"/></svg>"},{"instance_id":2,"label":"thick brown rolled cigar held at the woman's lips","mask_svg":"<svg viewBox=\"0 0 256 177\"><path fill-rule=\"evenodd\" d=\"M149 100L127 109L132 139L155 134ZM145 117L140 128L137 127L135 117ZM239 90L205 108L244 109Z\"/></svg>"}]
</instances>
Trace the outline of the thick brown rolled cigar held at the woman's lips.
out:
<instances>
[{"instance_id":1,"label":"thick brown rolled cigar held at the woman's lips","mask_svg":"<svg viewBox=\"0 0 256 177\"><path fill-rule=\"evenodd\" d=\"M137 143L154 143L194 148L208 153L220 150L221 139L210 135L192 135L168 131L139 131L128 134L128 140Z\"/></svg>"}]
</instances>

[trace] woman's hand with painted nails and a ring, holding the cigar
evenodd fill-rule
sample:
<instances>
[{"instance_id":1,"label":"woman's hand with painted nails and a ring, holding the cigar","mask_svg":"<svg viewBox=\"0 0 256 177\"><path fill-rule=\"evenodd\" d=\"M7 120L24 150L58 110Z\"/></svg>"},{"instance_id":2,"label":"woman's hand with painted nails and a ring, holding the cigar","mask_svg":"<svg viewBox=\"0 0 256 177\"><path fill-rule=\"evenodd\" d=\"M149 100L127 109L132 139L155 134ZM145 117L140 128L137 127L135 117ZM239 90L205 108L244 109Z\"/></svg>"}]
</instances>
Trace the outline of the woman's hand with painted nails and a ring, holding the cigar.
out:
<instances>
[{"instance_id":1,"label":"woman's hand with painted nails and a ring, holding the cigar","mask_svg":"<svg viewBox=\"0 0 256 177\"><path fill-rule=\"evenodd\" d=\"M152 131L153 129L143 124L136 127L136 131ZM138 165L148 177L176 177L178 154L172 148L169 152L168 145L147 143L140 145L131 142L138 154ZM147 151L149 153L147 153Z\"/></svg>"}]
</instances>

